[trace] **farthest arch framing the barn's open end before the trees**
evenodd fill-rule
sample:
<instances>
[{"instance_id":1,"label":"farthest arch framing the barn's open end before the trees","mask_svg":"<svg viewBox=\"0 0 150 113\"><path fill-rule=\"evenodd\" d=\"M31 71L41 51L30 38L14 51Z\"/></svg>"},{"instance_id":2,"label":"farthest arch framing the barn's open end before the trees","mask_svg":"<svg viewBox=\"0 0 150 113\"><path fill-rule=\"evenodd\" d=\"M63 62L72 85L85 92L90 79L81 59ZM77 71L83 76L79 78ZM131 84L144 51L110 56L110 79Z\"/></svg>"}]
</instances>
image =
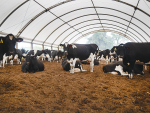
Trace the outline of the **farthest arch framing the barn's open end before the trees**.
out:
<instances>
[{"instance_id":1,"label":"farthest arch framing the barn's open end before the trees","mask_svg":"<svg viewBox=\"0 0 150 113\"><path fill-rule=\"evenodd\" d=\"M130 39L127 35L124 35L124 34L118 32L118 31L109 30L109 29L105 29L105 31L104 31L104 30L94 30L94 31L91 31L91 32L88 32L88 33L84 34L83 37L85 37L85 36L87 36L87 35L90 35L90 34L93 34L93 33L96 33L96 32L114 32L114 33L117 33L117 34L119 34L119 35L122 35L122 36L126 37L127 39L129 39L129 40L132 41L132 42L135 42L134 40ZM76 39L73 43L76 43L78 40L80 40L80 39L83 38L83 37L82 37L82 36L79 37L79 38Z\"/></svg>"}]
</instances>

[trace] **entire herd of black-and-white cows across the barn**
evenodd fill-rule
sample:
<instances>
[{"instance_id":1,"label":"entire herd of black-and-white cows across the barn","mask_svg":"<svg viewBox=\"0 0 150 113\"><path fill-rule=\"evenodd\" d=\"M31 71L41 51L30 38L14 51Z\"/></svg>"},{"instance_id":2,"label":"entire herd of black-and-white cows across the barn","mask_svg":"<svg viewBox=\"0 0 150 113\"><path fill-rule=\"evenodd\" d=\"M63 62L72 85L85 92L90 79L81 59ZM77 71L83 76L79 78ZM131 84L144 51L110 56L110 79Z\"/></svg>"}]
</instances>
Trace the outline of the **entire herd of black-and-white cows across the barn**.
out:
<instances>
[{"instance_id":1,"label":"entire herd of black-and-white cows across the barn","mask_svg":"<svg viewBox=\"0 0 150 113\"><path fill-rule=\"evenodd\" d=\"M13 34L6 37L0 37L0 67L4 67L7 60L13 65L13 59L21 64L21 59L25 59L22 64L23 72L37 72L44 70L44 64L38 60L45 58L51 60L62 60L62 67L70 73L76 72L78 68L83 70L82 63L90 64L90 72L93 72L94 65L99 65L101 60L106 61L103 66L105 73L113 73L119 75L128 75L133 78L133 74L143 75L143 65L150 65L150 43L134 43L129 42L114 46L111 50L106 49L100 51L96 44L60 44L64 52L56 50L30 50L15 49L16 42L23 41L22 38L15 38ZM113 60L112 60L113 59ZM110 63L108 64L108 62ZM113 61L113 62L112 62ZM150 69L149 69L150 72Z\"/></svg>"}]
</instances>

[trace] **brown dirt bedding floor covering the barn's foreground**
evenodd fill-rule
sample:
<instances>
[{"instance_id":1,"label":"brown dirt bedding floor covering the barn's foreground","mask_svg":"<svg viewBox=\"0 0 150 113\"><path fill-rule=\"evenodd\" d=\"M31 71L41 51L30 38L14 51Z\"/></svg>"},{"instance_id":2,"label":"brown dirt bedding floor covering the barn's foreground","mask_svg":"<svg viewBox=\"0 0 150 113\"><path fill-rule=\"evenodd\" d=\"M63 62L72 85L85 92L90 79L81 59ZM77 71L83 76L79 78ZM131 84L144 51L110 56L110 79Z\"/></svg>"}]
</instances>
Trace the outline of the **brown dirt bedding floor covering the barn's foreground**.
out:
<instances>
[{"instance_id":1,"label":"brown dirt bedding floor covering the barn's foreground","mask_svg":"<svg viewBox=\"0 0 150 113\"><path fill-rule=\"evenodd\" d=\"M70 74L61 63L43 62L45 70L23 73L21 65L0 68L0 113L150 113L150 74L103 73L103 65L83 65Z\"/></svg>"}]
</instances>

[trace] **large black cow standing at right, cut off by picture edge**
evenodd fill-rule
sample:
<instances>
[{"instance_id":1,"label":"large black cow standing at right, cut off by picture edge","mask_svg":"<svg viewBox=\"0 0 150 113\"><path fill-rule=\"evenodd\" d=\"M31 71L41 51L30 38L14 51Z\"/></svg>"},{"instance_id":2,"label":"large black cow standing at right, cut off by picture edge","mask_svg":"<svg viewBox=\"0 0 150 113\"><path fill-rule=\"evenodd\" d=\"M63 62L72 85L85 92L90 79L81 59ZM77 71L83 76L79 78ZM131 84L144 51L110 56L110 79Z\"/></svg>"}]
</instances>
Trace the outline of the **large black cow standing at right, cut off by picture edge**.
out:
<instances>
[{"instance_id":1,"label":"large black cow standing at right, cut off by picture edge","mask_svg":"<svg viewBox=\"0 0 150 113\"><path fill-rule=\"evenodd\" d=\"M150 64L150 51L146 51L150 49L150 43L128 42L117 49L120 55L124 55L123 64L128 67L129 78L133 78L132 70L136 61Z\"/></svg>"}]
</instances>

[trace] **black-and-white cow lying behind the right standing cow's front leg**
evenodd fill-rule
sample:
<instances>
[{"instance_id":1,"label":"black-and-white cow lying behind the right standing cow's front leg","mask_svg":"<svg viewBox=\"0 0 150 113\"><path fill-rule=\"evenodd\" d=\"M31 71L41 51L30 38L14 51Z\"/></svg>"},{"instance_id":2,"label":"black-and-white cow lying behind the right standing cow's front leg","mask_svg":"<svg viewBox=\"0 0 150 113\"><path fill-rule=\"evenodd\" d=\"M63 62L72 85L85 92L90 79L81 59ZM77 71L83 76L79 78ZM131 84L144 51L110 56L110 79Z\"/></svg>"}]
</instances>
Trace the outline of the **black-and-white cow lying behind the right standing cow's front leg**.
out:
<instances>
[{"instance_id":1,"label":"black-and-white cow lying behind the right standing cow's front leg","mask_svg":"<svg viewBox=\"0 0 150 113\"><path fill-rule=\"evenodd\" d=\"M128 75L127 66L123 64L123 61L116 61L111 64L103 66L104 73L112 73L118 75ZM144 75L143 65L135 64L133 72L138 75Z\"/></svg>"}]
</instances>

